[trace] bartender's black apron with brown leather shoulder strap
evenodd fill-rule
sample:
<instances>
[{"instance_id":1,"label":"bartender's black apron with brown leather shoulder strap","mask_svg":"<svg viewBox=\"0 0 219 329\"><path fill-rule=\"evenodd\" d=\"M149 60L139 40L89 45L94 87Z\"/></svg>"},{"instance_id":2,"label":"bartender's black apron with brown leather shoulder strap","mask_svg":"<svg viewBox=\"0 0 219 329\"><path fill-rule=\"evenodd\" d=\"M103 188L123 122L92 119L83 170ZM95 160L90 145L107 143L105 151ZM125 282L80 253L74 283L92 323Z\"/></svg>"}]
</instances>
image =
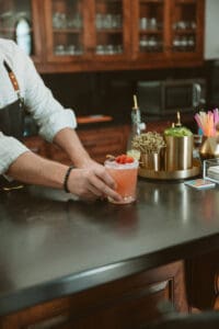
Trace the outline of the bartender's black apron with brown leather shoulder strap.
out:
<instances>
[{"instance_id":1,"label":"bartender's black apron with brown leather shoulder strap","mask_svg":"<svg viewBox=\"0 0 219 329\"><path fill-rule=\"evenodd\" d=\"M18 100L3 109L0 109L0 132L2 132L7 136L12 136L18 139L22 139L24 133L24 101L20 93L20 87L18 80L7 64L3 61L4 68L8 71L9 78L13 86L14 92L18 95ZM8 181L3 175L0 175L0 188L10 191L13 189L20 189L23 185L18 181Z\"/></svg>"}]
</instances>

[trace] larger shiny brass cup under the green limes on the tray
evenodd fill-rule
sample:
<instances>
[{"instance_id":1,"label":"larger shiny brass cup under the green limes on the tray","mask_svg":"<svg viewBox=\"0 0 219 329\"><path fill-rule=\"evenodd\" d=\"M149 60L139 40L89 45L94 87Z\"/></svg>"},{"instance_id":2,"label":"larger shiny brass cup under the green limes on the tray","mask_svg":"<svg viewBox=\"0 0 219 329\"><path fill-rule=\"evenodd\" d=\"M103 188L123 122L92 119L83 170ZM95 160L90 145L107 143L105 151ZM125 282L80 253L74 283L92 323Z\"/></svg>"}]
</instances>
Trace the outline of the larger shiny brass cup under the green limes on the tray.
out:
<instances>
[{"instance_id":1,"label":"larger shiny brass cup under the green limes on the tray","mask_svg":"<svg viewBox=\"0 0 219 329\"><path fill-rule=\"evenodd\" d=\"M187 170L193 167L193 135L164 136L166 143L165 170Z\"/></svg>"}]
</instances>

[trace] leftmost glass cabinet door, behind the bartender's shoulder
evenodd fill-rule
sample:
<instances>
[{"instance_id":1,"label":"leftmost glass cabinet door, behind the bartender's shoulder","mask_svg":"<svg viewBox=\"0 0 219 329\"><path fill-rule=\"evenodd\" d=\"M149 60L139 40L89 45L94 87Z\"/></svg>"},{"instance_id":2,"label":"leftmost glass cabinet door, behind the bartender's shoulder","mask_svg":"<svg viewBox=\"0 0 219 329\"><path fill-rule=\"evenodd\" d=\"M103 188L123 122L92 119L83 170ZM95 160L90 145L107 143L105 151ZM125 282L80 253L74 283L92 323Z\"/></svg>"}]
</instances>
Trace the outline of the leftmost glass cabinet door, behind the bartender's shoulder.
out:
<instances>
[{"instance_id":1,"label":"leftmost glass cabinet door, behind the bartender's shoulder","mask_svg":"<svg viewBox=\"0 0 219 329\"><path fill-rule=\"evenodd\" d=\"M0 1L0 37L13 39L37 61L39 57L39 37L33 29L37 15L35 4L31 0Z\"/></svg>"}]
</instances>

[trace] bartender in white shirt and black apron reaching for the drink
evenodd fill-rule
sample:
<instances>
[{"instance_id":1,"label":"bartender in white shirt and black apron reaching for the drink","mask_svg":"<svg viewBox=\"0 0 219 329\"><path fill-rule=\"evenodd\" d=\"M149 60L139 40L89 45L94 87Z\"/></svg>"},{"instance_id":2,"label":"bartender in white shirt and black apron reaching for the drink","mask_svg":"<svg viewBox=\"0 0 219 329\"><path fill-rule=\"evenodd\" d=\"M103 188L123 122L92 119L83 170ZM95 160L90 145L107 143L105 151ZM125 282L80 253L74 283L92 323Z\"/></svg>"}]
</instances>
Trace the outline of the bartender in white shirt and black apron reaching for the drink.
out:
<instances>
[{"instance_id":1,"label":"bartender in white shirt and black apron reaching for the drink","mask_svg":"<svg viewBox=\"0 0 219 329\"><path fill-rule=\"evenodd\" d=\"M38 126L38 134L65 150L73 167L45 159L20 139L23 109ZM44 84L32 59L9 39L0 38L0 174L27 184L37 184L93 201L120 196L104 166L83 148L71 109L65 109Z\"/></svg>"}]
</instances>

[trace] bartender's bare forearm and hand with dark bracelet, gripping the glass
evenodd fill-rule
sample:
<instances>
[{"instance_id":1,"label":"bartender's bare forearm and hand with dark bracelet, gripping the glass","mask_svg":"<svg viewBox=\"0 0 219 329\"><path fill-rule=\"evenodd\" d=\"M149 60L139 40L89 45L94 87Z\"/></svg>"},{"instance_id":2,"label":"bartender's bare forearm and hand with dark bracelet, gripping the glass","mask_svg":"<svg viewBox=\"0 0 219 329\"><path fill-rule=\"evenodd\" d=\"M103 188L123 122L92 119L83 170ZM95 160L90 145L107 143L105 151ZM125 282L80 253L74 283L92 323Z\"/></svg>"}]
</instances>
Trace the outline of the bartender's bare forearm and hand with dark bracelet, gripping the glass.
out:
<instances>
[{"instance_id":1,"label":"bartender's bare forearm and hand with dark bracelet, gripping the glass","mask_svg":"<svg viewBox=\"0 0 219 329\"><path fill-rule=\"evenodd\" d=\"M120 196L113 190L113 180L103 169L102 166L100 168L72 169L68 179L69 192L88 201L106 195L119 201ZM13 161L7 174L24 183L62 190L67 171L68 166L66 164L26 151Z\"/></svg>"}]
</instances>

